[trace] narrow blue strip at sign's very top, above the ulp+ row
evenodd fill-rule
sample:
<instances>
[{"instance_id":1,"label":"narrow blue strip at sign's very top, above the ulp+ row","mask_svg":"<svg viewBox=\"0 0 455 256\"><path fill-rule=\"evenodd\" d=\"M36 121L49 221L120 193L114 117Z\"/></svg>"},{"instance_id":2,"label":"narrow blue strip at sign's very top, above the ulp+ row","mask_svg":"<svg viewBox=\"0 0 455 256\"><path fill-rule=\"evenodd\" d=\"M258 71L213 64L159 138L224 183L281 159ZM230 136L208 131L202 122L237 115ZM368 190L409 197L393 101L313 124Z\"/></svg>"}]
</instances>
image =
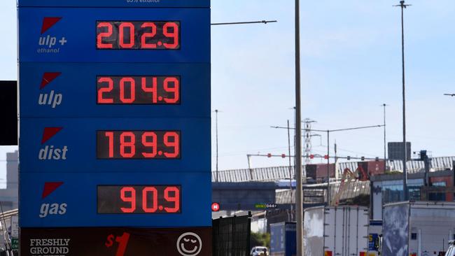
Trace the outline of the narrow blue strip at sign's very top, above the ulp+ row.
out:
<instances>
[{"instance_id":1,"label":"narrow blue strip at sign's very top, above the ulp+ row","mask_svg":"<svg viewBox=\"0 0 455 256\"><path fill-rule=\"evenodd\" d=\"M19 7L210 7L210 0L19 0Z\"/></svg>"}]
</instances>

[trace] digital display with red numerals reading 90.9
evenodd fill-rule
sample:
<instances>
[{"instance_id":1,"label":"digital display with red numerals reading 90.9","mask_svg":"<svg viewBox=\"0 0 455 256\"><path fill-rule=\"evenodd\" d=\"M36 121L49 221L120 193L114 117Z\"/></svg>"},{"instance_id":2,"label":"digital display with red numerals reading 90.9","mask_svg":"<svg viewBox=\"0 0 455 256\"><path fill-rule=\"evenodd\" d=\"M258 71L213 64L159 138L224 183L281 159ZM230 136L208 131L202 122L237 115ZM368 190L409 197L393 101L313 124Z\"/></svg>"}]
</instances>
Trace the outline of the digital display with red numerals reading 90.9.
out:
<instances>
[{"instance_id":1,"label":"digital display with red numerals reading 90.9","mask_svg":"<svg viewBox=\"0 0 455 256\"><path fill-rule=\"evenodd\" d=\"M98 213L181 213L180 185L99 185Z\"/></svg>"}]
</instances>

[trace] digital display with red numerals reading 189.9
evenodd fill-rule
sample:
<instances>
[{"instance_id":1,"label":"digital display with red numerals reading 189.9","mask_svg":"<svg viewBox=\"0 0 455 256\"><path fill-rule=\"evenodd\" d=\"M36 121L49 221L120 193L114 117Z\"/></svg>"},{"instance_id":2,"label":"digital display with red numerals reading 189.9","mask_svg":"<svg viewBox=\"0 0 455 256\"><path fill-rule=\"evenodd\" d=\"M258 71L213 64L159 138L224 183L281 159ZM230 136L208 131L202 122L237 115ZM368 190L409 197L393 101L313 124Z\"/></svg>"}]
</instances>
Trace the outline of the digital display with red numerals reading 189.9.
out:
<instances>
[{"instance_id":1,"label":"digital display with red numerals reading 189.9","mask_svg":"<svg viewBox=\"0 0 455 256\"><path fill-rule=\"evenodd\" d=\"M98 159L180 159L180 131L97 131Z\"/></svg>"}]
</instances>

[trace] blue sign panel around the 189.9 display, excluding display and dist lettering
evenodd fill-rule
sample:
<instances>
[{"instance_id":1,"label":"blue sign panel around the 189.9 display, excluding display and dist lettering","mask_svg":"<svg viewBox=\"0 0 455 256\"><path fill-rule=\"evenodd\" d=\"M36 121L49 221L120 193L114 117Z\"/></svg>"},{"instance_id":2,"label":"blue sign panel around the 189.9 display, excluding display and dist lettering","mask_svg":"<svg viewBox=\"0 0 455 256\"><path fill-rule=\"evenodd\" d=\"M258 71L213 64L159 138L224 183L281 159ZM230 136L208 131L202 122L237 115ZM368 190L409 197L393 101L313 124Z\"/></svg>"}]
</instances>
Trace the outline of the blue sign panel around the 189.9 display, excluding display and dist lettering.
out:
<instances>
[{"instance_id":1,"label":"blue sign panel around the 189.9 display, excluding display and dist lettering","mask_svg":"<svg viewBox=\"0 0 455 256\"><path fill-rule=\"evenodd\" d=\"M63 129L42 143L45 127ZM179 130L181 159L97 159L97 130ZM209 173L210 143L210 118L21 118L20 171ZM66 159L39 159L51 145Z\"/></svg>"}]
</instances>

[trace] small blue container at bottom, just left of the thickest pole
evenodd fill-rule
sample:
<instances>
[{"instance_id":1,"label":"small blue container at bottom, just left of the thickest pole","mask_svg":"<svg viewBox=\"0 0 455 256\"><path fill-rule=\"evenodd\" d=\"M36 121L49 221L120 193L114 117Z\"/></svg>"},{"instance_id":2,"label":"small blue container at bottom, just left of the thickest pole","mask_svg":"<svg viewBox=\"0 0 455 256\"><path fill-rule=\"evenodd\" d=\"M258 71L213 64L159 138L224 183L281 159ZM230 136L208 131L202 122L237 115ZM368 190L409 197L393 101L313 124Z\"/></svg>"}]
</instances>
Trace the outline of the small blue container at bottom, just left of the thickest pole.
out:
<instances>
[{"instance_id":1,"label":"small blue container at bottom, just left of the thickest pole","mask_svg":"<svg viewBox=\"0 0 455 256\"><path fill-rule=\"evenodd\" d=\"M297 255L295 222L270 225L270 256Z\"/></svg>"}]
</instances>

